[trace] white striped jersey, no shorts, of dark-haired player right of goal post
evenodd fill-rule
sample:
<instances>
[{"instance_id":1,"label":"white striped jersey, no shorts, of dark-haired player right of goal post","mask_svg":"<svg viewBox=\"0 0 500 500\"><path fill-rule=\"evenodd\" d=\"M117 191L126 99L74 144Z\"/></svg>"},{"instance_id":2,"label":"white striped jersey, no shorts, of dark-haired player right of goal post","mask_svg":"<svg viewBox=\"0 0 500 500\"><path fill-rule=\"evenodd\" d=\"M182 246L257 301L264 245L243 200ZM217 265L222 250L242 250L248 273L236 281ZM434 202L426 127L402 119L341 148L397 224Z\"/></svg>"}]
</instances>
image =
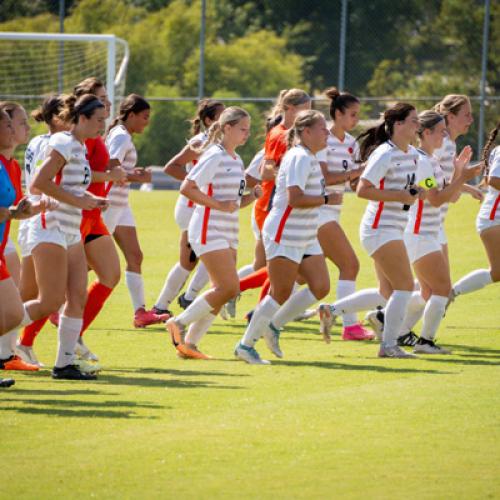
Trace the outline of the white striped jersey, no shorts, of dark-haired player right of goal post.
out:
<instances>
[{"instance_id":1,"label":"white striped jersey, no shorts, of dark-haired player right of goal post","mask_svg":"<svg viewBox=\"0 0 500 500\"><path fill-rule=\"evenodd\" d=\"M132 174L137 165L137 150L132 142L130 132L123 125L113 127L106 137L106 147L110 160L118 160L120 166L127 174ZM108 193L108 200L111 207L124 208L128 206L128 193L130 184L113 184Z\"/></svg>"}]
</instances>

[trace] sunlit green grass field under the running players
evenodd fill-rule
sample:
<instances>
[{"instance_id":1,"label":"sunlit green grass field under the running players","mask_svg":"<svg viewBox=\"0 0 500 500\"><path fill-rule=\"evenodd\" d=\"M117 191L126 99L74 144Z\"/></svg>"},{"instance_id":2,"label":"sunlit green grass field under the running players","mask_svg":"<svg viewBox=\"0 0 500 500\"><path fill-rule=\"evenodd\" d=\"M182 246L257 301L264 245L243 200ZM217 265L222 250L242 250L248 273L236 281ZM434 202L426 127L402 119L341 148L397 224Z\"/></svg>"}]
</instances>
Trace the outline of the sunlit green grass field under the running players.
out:
<instances>
[{"instance_id":1,"label":"sunlit green grass field under the running players","mask_svg":"<svg viewBox=\"0 0 500 500\"><path fill-rule=\"evenodd\" d=\"M132 194L149 306L177 259L175 197ZM359 288L374 286L363 208L346 196ZM454 279L487 266L477 208L466 197L450 211ZM241 217L246 264L249 209ZM241 299L239 318L255 299ZM0 498L500 497L500 286L449 310L439 340L452 356L418 360L378 359L376 344L343 342L338 327L326 345L314 319L287 328L285 359L249 366L232 356L238 319L204 339L216 360L182 361L163 328L132 328L131 309L122 282L86 334L105 367L97 382L55 382L44 369L0 392ZM36 350L48 366L55 345L46 326Z\"/></svg>"}]
</instances>

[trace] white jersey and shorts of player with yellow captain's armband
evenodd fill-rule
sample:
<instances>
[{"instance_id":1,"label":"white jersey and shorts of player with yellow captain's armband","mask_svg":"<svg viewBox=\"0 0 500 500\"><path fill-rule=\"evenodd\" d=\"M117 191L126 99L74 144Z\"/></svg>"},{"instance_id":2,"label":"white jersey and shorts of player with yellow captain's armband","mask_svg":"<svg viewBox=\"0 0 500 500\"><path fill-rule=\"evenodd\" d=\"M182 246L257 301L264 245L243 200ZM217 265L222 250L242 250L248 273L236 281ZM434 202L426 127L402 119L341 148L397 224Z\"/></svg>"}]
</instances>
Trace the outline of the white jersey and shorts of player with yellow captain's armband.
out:
<instances>
[{"instance_id":1,"label":"white jersey and shorts of player with yellow captain's armband","mask_svg":"<svg viewBox=\"0 0 500 500\"><path fill-rule=\"evenodd\" d=\"M417 183L433 177L439 189L446 186L444 171L435 156L418 150ZM433 207L427 200L418 200L410 208L410 218L405 230L405 244L413 264L425 255L440 252L442 227L441 207Z\"/></svg>"}]
</instances>

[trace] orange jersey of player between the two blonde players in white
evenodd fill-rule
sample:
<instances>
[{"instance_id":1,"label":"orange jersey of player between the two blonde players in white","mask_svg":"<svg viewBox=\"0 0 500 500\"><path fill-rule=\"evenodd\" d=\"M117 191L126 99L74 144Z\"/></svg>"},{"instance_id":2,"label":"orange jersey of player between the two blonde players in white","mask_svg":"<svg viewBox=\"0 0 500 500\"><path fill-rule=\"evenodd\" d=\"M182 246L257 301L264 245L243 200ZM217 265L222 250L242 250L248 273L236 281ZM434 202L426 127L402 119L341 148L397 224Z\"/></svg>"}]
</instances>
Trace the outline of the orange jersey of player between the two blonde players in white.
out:
<instances>
[{"instance_id":1,"label":"orange jersey of player between the two blonde players in white","mask_svg":"<svg viewBox=\"0 0 500 500\"><path fill-rule=\"evenodd\" d=\"M279 167L283 156L286 153L286 134L287 130L284 125L276 125L266 136L264 145L264 159L272 160ZM255 202L254 217L257 227L262 230L264 221L271 211L273 204L273 195L275 189L274 180L262 181L262 196Z\"/></svg>"}]
</instances>

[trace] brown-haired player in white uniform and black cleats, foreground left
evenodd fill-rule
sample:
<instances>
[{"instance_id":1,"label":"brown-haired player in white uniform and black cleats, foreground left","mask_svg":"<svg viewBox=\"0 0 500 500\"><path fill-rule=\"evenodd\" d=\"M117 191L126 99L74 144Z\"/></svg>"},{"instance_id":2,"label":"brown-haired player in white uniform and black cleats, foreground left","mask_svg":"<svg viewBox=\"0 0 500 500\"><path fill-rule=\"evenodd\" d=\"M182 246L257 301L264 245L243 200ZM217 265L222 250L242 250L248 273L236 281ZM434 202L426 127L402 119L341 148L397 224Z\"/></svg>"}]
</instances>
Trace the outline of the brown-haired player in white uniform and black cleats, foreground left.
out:
<instances>
[{"instance_id":1,"label":"brown-haired player in white uniform and black cleats, foreground left","mask_svg":"<svg viewBox=\"0 0 500 500\"><path fill-rule=\"evenodd\" d=\"M89 380L74 364L75 347L83 324L86 303L87 260L80 233L81 211L104 208L107 202L86 191L91 171L85 140L96 137L106 118L104 104L94 95L67 97L61 113L72 124L70 132L58 132L49 139L47 156L37 170L31 192L59 201L53 212L36 217L29 229L28 244L35 265L39 296L25 303L25 320L41 319L59 309L58 354L52 377ZM59 272L54 273L57 268ZM27 323L27 322L26 322Z\"/></svg>"}]
</instances>

